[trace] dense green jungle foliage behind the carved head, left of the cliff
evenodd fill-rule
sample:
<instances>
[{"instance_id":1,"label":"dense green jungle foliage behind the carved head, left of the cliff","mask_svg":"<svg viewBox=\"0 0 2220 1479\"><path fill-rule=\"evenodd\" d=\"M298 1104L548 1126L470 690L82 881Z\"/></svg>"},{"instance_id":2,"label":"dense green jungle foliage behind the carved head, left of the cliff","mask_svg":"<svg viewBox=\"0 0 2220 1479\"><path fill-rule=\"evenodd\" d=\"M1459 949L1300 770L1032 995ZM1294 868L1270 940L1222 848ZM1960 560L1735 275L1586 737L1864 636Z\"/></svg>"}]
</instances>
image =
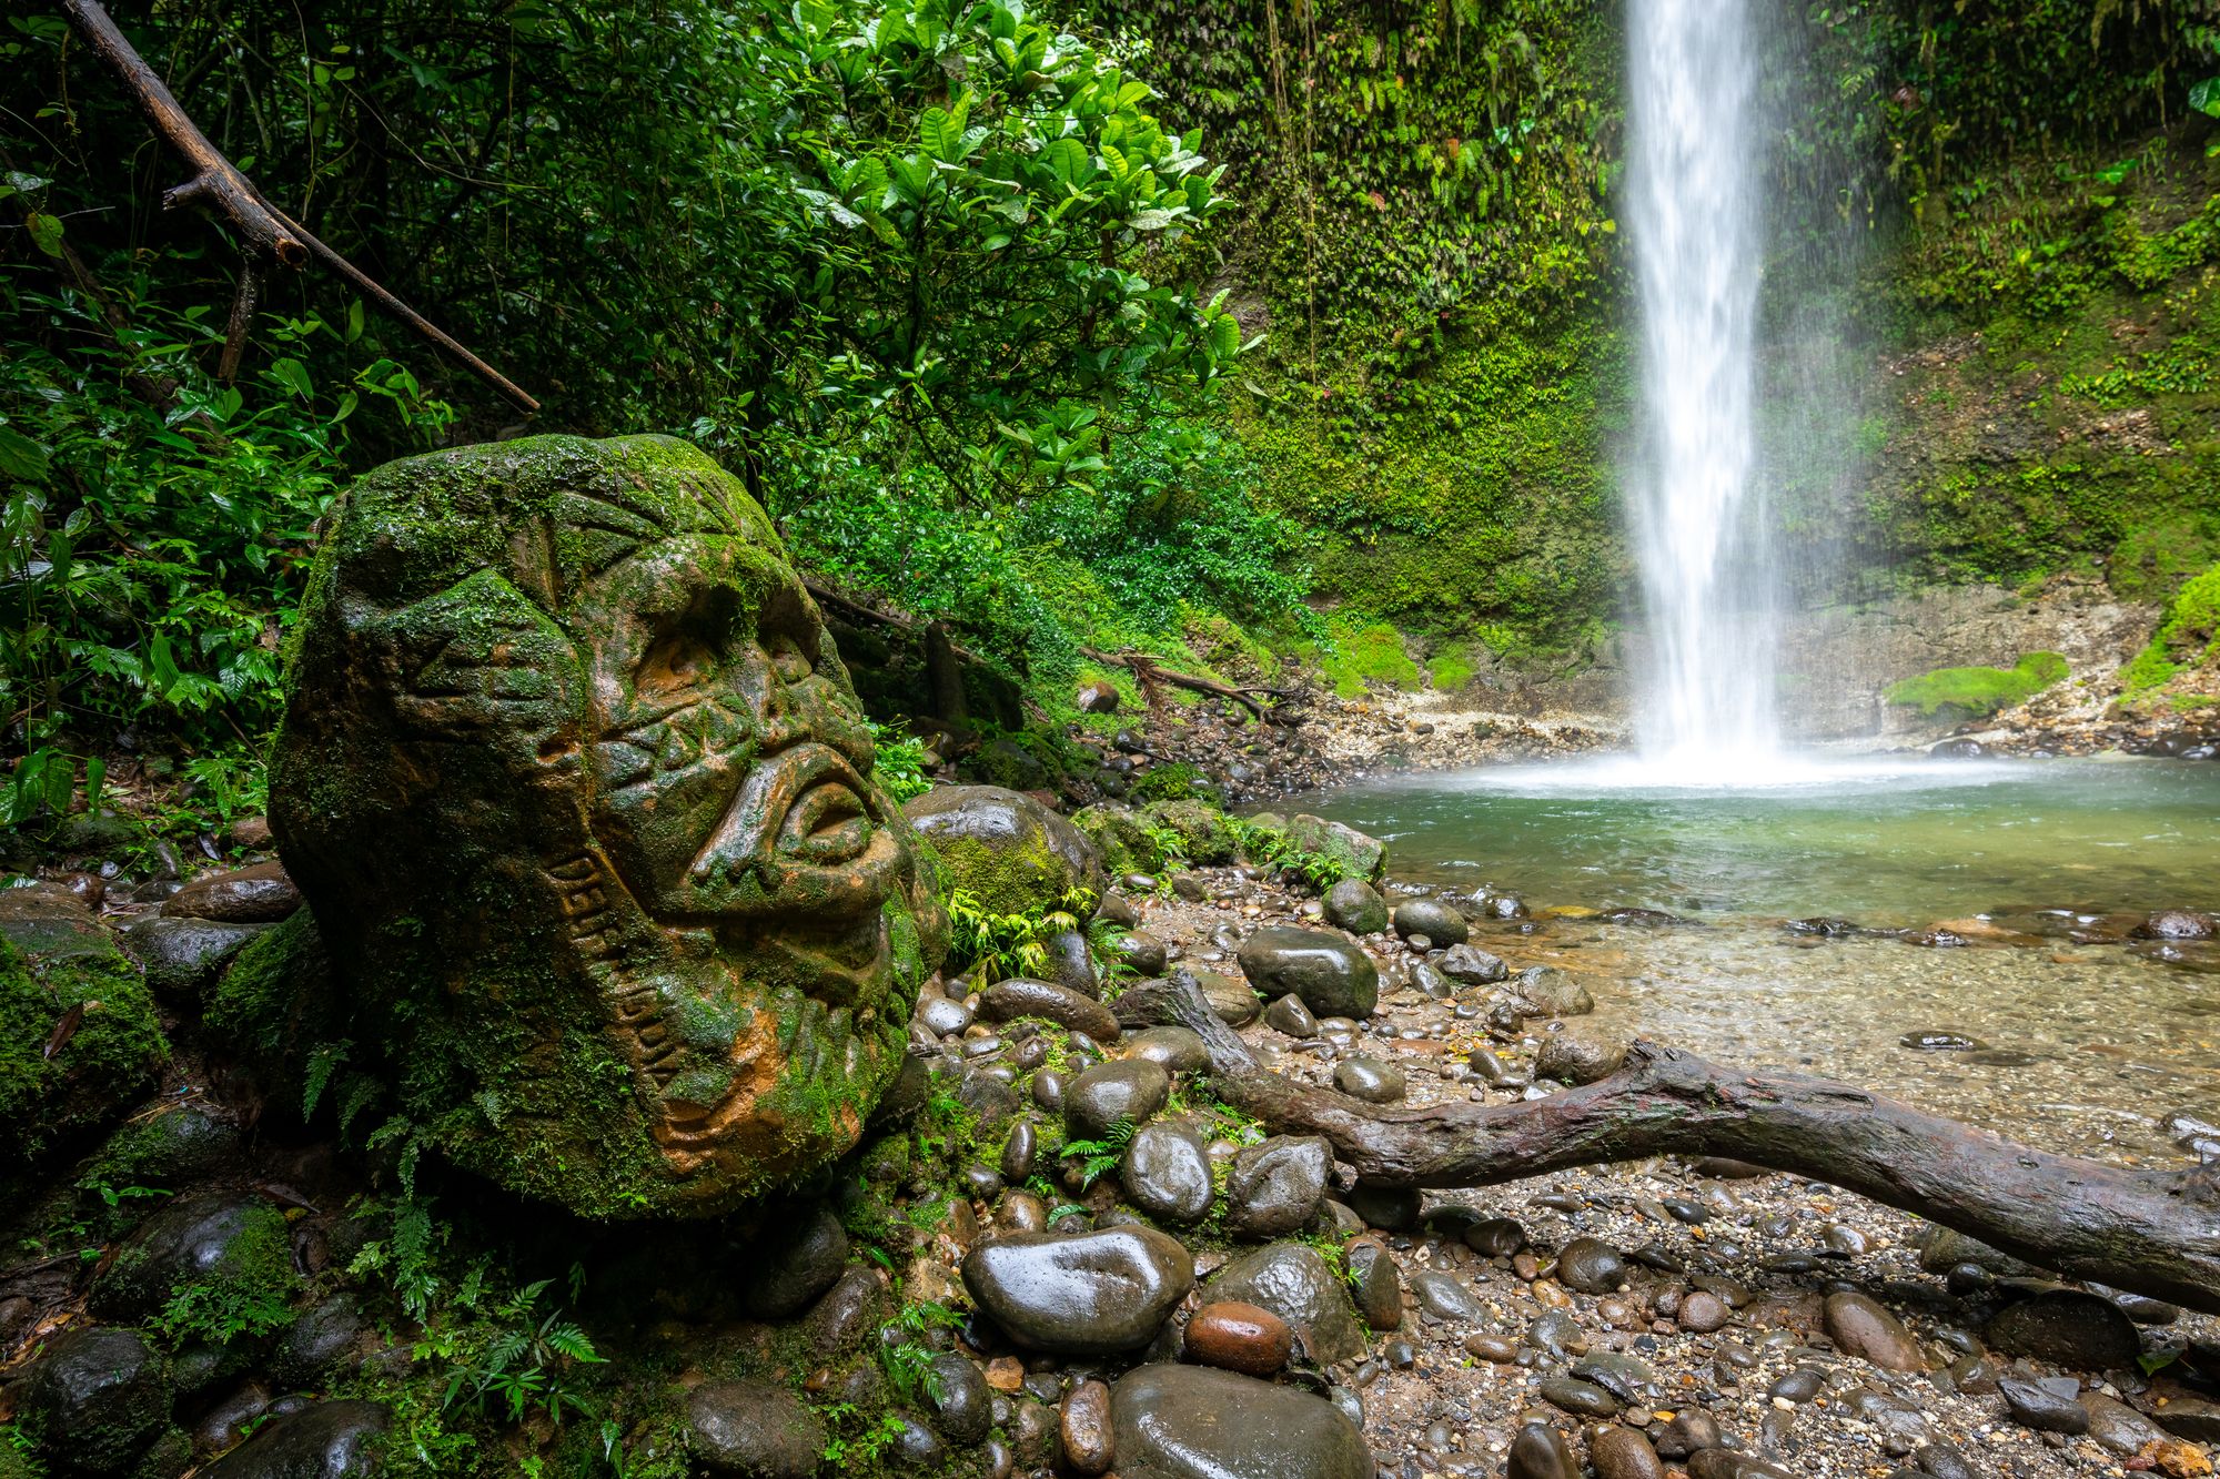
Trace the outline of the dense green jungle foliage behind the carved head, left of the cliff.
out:
<instances>
[{"instance_id":1,"label":"dense green jungle foliage behind the carved head, left of the cliff","mask_svg":"<svg viewBox=\"0 0 2220 1479\"><path fill-rule=\"evenodd\" d=\"M264 193L544 402L690 435L804 553L1023 664L1296 608L1208 413L1223 167L1021 0L198 0L118 20ZM218 378L240 255L60 16L0 31L0 704L16 819L113 748L249 753L315 520L522 426L311 269ZM924 555L924 557L921 557ZM1094 566L1081 595L1043 564ZM58 784L60 782L60 784Z\"/></svg>"}]
</instances>

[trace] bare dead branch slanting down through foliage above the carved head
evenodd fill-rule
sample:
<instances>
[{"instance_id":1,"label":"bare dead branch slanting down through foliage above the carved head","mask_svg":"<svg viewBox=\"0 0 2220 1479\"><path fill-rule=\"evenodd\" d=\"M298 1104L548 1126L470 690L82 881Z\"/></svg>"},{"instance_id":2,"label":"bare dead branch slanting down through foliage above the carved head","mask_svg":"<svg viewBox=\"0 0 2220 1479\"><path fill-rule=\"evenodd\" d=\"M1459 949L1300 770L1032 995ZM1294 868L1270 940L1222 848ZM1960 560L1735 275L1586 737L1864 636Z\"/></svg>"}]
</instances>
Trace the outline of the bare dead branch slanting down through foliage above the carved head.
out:
<instances>
[{"instance_id":1,"label":"bare dead branch slanting down through foliage above the carved head","mask_svg":"<svg viewBox=\"0 0 2220 1479\"><path fill-rule=\"evenodd\" d=\"M262 275L271 266L302 269L311 258L324 262L335 273L353 282L371 302L397 318L411 333L462 360L473 375L491 384L522 411L537 411L539 402L511 384L500 371L457 344L444 329L389 293L369 273L342 258L337 251L315 240L297 220L264 200L253 180L224 158L224 151L209 142L209 135L186 115L171 95L169 84L147 64L147 58L124 38L109 18L100 0L62 0L78 36L115 73L162 138L193 171L184 184L162 193L164 209L202 207L224 218L246 260L240 264L240 286L231 304L231 322L224 335L224 358L220 375L231 380L246 346L246 331L253 324L255 304L262 298Z\"/></svg>"}]
</instances>

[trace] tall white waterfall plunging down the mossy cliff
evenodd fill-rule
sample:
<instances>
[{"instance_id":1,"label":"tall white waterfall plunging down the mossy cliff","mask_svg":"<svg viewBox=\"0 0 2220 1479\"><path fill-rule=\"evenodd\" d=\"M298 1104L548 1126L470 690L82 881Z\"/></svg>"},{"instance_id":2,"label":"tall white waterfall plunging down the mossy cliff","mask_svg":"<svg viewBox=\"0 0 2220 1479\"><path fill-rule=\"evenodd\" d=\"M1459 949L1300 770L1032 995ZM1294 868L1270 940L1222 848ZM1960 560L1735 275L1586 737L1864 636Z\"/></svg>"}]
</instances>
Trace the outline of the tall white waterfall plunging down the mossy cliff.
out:
<instances>
[{"instance_id":1,"label":"tall white waterfall plunging down the mossy cliff","mask_svg":"<svg viewBox=\"0 0 2220 1479\"><path fill-rule=\"evenodd\" d=\"M1778 764L1776 560L1754 486L1763 269L1752 0L1634 0L1632 244L1643 311L1643 455L1629 469L1658 777Z\"/></svg>"}]
</instances>

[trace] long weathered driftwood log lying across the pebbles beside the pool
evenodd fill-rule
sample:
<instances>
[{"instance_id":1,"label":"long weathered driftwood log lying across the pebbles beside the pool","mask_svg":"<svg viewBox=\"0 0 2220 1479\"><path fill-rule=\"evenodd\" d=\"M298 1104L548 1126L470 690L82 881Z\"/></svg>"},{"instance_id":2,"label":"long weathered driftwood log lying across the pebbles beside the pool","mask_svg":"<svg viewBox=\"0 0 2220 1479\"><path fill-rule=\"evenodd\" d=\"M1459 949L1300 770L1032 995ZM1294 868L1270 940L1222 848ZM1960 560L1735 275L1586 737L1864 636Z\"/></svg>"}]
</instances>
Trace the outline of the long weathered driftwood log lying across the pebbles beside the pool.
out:
<instances>
[{"instance_id":1,"label":"long weathered driftwood log lying across the pebbles beside the pool","mask_svg":"<svg viewBox=\"0 0 2220 1479\"><path fill-rule=\"evenodd\" d=\"M1276 1133L1323 1135L1374 1186L1723 1155L1843 1186L2076 1279L2220 1315L2220 1166L2047 1155L1847 1084L1743 1073L1647 1042L1612 1077L1545 1099L1379 1108L1263 1068L1192 977L1128 988L1119 1015L1194 1028L1221 1099Z\"/></svg>"}]
</instances>

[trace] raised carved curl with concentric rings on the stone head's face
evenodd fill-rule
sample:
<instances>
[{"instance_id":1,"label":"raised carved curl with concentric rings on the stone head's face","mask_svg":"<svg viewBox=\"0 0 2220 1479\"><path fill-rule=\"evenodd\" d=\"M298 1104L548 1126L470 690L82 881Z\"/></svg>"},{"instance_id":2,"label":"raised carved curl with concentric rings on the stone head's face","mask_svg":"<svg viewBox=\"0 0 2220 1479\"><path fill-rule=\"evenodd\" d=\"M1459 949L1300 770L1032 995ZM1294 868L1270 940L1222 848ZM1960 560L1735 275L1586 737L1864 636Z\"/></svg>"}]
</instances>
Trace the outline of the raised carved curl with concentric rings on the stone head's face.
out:
<instances>
[{"instance_id":1,"label":"raised carved curl with concentric rings on the stone head's face","mask_svg":"<svg viewBox=\"0 0 2220 1479\"><path fill-rule=\"evenodd\" d=\"M766 904L857 913L886 902L895 848L870 788L828 744L795 744L755 762L690 882L739 884L755 873Z\"/></svg>"}]
</instances>

